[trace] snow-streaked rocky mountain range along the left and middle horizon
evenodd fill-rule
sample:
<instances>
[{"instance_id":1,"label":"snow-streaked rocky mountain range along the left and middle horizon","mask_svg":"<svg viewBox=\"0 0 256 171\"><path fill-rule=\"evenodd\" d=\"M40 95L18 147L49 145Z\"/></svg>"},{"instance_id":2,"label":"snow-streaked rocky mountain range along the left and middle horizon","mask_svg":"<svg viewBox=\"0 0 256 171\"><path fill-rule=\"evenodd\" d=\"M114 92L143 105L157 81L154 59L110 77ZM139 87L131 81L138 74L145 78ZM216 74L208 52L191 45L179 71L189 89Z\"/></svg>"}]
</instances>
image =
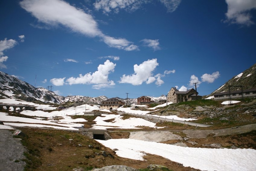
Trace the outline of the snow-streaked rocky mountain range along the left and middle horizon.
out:
<instances>
[{"instance_id":1,"label":"snow-streaked rocky mountain range along the left and middle horizon","mask_svg":"<svg viewBox=\"0 0 256 171\"><path fill-rule=\"evenodd\" d=\"M25 101L41 101L46 103L65 103L65 102L84 102L89 104L100 104L102 101L109 99L106 96L87 97L87 96L59 96L53 91L45 88L35 88L34 86L18 79L15 76L0 71L0 98L16 98ZM112 97L110 97L112 98ZM137 103L137 99L128 100L116 97L119 100L128 101L128 104ZM165 99L165 96L151 97L153 101L158 102Z\"/></svg>"}]
</instances>

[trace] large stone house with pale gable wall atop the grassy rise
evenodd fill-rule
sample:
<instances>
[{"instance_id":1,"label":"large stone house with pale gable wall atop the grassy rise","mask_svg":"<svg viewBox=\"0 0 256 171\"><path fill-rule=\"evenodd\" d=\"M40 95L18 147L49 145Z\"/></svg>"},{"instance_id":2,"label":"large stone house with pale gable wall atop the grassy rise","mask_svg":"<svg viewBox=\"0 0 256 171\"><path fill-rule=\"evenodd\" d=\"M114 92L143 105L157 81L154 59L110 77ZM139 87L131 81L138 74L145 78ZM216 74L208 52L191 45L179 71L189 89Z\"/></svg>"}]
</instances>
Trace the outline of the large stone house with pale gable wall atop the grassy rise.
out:
<instances>
[{"instance_id":1,"label":"large stone house with pale gable wall atop the grassy rise","mask_svg":"<svg viewBox=\"0 0 256 171\"><path fill-rule=\"evenodd\" d=\"M202 99L202 96L198 95L198 92L194 88L187 91L179 91L175 87L172 87L167 95L167 101L173 103L200 99Z\"/></svg>"}]
</instances>

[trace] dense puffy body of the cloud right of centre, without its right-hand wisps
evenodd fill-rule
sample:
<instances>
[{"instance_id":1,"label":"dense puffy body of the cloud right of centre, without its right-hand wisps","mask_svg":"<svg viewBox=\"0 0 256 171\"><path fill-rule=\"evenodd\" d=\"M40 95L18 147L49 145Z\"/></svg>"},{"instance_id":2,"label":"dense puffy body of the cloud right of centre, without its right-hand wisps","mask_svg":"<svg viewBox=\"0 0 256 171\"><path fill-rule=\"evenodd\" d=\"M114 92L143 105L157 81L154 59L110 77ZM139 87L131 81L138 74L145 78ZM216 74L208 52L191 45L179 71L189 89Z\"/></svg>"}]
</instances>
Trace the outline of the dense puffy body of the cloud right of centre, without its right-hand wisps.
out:
<instances>
[{"instance_id":1,"label":"dense puffy body of the cloud right of centre, without its right-hand wisps","mask_svg":"<svg viewBox=\"0 0 256 171\"><path fill-rule=\"evenodd\" d=\"M149 83L150 81L152 81L152 72L155 70L157 66L157 59L144 61L139 66L135 64L133 66L134 74L127 76L124 74L120 78L119 83L130 83L132 85L141 85L143 82Z\"/></svg>"}]
</instances>

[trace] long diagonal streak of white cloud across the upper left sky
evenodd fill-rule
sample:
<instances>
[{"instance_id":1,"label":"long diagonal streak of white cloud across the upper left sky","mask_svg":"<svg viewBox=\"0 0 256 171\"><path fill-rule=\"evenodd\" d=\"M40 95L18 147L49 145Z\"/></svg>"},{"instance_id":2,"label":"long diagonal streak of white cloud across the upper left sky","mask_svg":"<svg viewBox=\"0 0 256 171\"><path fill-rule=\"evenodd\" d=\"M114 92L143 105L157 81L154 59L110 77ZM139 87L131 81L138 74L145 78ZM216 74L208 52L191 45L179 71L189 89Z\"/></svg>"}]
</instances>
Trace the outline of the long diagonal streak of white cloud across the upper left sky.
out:
<instances>
[{"instance_id":1,"label":"long diagonal streak of white cloud across the upper left sky","mask_svg":"<svg viewBox=\"0 0 256 171\"><path fill-rule=\"evenodd\" d=\"M20 2L20 6L37 18L38 22L47 26L65 26L73 32L81 33L87 37L99 37L108 46L125 51L138 49L138 46L124 38L116 39L103 34L93 16L65 1L23 0Z\"/></svg>"}]
</instances>

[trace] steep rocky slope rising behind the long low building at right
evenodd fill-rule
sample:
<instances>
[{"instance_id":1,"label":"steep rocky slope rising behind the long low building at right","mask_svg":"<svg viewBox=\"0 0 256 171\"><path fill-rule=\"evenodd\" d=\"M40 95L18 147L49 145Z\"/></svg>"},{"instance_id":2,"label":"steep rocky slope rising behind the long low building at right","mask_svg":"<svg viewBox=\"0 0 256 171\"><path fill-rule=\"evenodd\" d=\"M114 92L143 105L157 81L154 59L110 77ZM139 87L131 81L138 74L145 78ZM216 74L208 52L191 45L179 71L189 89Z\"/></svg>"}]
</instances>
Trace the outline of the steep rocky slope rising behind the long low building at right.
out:
<instances>
[{"instance_id":1,"label":"steep rocky slope rising behind the long low building at right","mask_svg":"<svg viewBox=\"0 0 256 171\"><path fill-rule=\"evenodd\" d=\"M240 90L243 86L243 89L251 89L256 88L256 63L248 68L247 70L243 71L242 73L233 76L229 81L227 81L224 85L216 89L212 92L211 95L217 92L229 91L229 86L231 91ZM232 87L233 86L233 87Z\"/></svg>"}]
</instances>

